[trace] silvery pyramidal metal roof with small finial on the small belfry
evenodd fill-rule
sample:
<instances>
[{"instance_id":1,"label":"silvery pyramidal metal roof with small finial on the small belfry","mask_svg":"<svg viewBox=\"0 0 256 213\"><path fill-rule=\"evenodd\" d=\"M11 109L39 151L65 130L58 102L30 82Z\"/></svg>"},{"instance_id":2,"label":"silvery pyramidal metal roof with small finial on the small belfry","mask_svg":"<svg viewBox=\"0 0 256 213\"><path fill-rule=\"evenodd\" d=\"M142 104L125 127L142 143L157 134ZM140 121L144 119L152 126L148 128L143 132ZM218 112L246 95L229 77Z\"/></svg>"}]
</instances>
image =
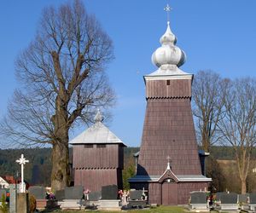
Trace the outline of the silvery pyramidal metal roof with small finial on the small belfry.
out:
<instances>
[{"instance_id":1,"label":"silvery pyramidal metal roof with small finial on the small belfry","mask_svg":"<svg viewBox=\"0 0 256 213\"><path fill-rule=\"evenodd\" d=\"M95 117L96 124L93 124L87 130L84 130L80 135L75 137L69 144L122 144L125 146L124 142L121 141L116 135L113 134L108 127L102 124L102 115L98 111ZM126 146L125 146L126 147Z\"/></svg>"}]
</instances>

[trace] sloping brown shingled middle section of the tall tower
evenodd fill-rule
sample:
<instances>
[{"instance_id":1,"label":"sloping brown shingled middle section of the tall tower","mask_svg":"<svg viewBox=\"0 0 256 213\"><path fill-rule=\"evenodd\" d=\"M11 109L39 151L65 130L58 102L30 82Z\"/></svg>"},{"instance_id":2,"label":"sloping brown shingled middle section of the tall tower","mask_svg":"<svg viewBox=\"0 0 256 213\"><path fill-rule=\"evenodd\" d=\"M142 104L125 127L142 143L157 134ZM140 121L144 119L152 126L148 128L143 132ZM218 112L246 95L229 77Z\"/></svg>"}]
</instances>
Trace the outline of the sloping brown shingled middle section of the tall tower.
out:
<instances>
[{"instance_id":1,"label":"sloping brown shingled middle section of the tall tower","mask_svg":"<svg viewBox=\"0 0 256 213\"><path fill-rule=\"evenodd\" d=\"M201 175L190 99L148 99L137 175Z\"/></svg>"}]
</instances>

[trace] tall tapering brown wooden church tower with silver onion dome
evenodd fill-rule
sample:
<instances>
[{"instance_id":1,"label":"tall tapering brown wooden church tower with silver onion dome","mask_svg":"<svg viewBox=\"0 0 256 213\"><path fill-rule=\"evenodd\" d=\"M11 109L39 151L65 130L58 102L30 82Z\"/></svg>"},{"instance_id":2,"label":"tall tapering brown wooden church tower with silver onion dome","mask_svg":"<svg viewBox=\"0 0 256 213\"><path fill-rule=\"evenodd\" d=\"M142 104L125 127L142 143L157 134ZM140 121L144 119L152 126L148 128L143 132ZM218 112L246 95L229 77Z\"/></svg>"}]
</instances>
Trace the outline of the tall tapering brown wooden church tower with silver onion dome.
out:
<instances>
[{"instance_id":1,"label":"tall tapering brown wooden church tower with silver onion dome","mask_svg":"<svg viewBox=\"0 0 256 213\"><path fill-rule=\"evenodd\" d=\"M202 176L191 112L193 75L179 69L183 50L167 22L161 47L152 61L159 68L144 76L147 108L137 175L131 188L148 190L149 204L188 204L189 193L205 190L211 178Z\"/></svg>"}]
</instances>

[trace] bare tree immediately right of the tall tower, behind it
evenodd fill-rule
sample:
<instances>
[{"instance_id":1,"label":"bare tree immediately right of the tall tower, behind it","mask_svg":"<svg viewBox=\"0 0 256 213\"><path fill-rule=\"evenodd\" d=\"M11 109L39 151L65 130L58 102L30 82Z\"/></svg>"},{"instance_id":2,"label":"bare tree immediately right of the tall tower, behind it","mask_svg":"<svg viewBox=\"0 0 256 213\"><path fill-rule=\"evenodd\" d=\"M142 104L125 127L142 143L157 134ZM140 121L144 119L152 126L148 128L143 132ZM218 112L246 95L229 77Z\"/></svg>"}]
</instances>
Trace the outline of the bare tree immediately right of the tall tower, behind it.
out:
<instances>
[{"instance_id":1,"label":"bare tree immediately right of the tall tower, behind it","mask_svg":"<svg viewBox=\"0 0 256 213\"><path fill-rule=\"evenodd\" d=\"M212 71L195 74L192 88L193 114L198 139L206 152L219 139L218 122L223 118L228 82L228 79L223 79Z\"/></svg>"}]
</instances>

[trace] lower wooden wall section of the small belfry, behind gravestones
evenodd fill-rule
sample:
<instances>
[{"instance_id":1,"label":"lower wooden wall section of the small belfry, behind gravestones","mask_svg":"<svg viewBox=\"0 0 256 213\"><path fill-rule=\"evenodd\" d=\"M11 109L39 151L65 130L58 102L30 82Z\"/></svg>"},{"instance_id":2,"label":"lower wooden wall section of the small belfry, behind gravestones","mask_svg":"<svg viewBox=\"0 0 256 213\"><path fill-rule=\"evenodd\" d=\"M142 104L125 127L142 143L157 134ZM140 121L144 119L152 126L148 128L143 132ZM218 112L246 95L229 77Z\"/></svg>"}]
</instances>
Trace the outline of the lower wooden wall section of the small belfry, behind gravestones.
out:
<instances>
[{"instance_id":1,"label":"lower wooden wall section of the small belfry, behind gravestones","mask_svg":"<svg viewBox=\"0 0 256 213\"><path fill-rule=\"evenodd\" d=\"M122 188L121 170L74 170L74 185L82 185L91 192L102 191L102 186L117 185Z\"/></svg>"}]
</instances>

